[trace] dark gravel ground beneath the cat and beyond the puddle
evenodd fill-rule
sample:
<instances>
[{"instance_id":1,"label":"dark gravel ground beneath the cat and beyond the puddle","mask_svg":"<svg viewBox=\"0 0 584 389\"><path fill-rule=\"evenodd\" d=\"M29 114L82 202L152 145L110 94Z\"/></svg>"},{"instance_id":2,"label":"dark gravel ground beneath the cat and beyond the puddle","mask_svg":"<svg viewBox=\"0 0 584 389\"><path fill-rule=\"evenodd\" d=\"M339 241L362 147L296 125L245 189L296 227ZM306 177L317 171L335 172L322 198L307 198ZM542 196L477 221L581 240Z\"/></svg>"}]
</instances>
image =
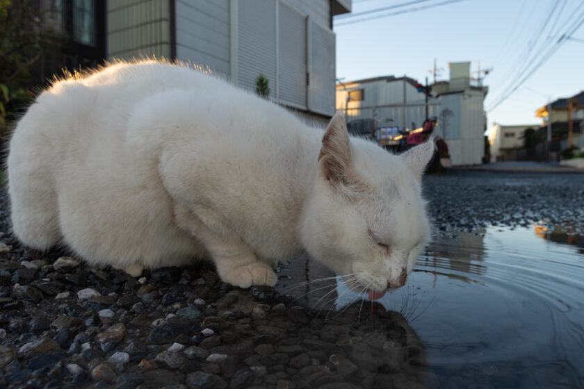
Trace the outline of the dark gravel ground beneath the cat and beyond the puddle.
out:
<instances>
[{"instance_id":1,"label":"dark gravel ground beneath the cat and beyond the puddle","mask_svg":"<svg viewBox=\"0 0 584 389\"><path fill-rule=\"evenodd\" d=\"M455 169L424 183L437 233L583 228L584 174ZM363 320L355 304L325 320L272 288L232 288L207 265L139 279L92 270L65 250L19 245L4 192L0 231L0 387L437 386L398 313Z\"/></svg>"}]
</instances>

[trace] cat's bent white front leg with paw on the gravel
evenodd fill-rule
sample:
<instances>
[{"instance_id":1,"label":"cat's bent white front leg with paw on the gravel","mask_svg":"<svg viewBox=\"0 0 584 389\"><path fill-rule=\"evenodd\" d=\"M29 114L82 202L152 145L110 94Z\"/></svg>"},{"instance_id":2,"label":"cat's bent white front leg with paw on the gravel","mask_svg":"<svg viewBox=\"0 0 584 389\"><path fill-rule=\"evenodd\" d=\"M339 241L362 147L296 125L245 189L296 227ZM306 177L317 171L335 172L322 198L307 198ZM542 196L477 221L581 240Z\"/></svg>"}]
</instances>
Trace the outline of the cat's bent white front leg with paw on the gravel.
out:
<instances>
[{"instance_id":1,"label":"cat's bent white front leg with paw on the gravel","mask_svg":"<svg viewBox=\"0 0 584 389\"><path fill-rule=\"evenodd\" d=\"M240 288L275 285L277 278L272 267L258 260L248 245L229 233L209 212L197 217L188 208L176 206L175 217L179 227L195 236L209 251L222 281Z\"/></svg>"}]
</instances>

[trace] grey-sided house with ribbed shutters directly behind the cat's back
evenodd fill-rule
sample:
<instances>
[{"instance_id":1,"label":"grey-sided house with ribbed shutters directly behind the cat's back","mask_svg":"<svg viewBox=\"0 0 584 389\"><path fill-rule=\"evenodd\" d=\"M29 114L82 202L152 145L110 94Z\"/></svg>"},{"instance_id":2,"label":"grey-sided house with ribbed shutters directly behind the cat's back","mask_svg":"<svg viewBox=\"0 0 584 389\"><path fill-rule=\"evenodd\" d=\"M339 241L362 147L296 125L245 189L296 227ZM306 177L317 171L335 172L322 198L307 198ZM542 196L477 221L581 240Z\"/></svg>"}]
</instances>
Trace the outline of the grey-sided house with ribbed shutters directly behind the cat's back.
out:
<instances>
[{"instance_id":1,"label":"grey-sided house with ribbed shutters directly behind the cat's back","mask_svg":"<svg viewBox=\"0 0 584 389\"><path fill-rule=\"evenodd\" d=\"M107 1L107 58L159 56L202 65L325 121L334 114L332 17L351 0Z\"/></svg>"}]
</instances>

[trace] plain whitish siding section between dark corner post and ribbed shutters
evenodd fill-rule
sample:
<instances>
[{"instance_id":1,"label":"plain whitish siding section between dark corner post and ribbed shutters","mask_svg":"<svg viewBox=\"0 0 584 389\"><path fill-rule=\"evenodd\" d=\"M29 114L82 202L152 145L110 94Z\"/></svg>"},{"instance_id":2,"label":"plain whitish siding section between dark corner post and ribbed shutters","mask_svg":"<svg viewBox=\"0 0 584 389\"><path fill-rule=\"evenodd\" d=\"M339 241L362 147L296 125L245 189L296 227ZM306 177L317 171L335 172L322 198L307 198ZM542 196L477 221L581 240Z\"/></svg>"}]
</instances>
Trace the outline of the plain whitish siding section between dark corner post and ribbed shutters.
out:
<instances>
[{"instance_id":1,"label":"plain whitish siding section between dark corner post and ribbed shutters","mask_svg":"<svg viewBox=\"0 0 584 389\"><path fill-rule=\"evenodd\" d=\"M229 75L229 0L176 0L177 59Z\"/></svg>"}]
</instances>

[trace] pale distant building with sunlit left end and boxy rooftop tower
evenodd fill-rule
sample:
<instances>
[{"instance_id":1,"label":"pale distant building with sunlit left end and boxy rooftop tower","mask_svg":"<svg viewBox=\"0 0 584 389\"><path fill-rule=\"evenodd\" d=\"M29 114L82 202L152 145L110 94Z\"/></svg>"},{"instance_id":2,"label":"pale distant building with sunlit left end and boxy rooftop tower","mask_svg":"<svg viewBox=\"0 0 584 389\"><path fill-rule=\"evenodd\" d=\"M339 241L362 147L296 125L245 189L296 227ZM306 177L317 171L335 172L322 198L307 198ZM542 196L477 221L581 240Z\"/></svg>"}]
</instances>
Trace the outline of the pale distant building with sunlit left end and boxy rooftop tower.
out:
<instances>
[{"instance_id":1,"label":"pale distant building with sunlit left end and boxy rooftop tower","mask_svg":"<svg viewBox=\"0 0 584 389\"><path fill-rule=\"evenodd\" d=\"M470 63L451 63L448 81L430 85L428 117L437 117L437 135L446 140L453 165L482 163L488 88L470 85ZM336 108L348 122L373 119L375 125L415 129L426 118L425 94L407 76L383 76L336 84Z\"/></svg>"}]
</instances>

